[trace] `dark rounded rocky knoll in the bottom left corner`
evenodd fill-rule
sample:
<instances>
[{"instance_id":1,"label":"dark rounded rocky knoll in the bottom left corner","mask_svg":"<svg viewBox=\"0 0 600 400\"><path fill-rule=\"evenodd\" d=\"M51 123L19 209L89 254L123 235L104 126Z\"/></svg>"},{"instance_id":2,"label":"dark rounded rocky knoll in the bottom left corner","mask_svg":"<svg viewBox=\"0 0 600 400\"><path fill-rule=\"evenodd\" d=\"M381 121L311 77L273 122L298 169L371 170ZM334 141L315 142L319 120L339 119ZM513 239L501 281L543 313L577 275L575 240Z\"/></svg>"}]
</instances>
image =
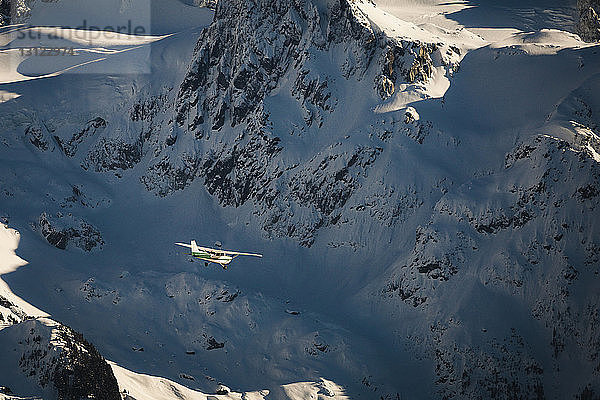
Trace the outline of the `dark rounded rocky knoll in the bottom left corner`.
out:
<instances>
[{"instance_id":1,"label":"dark rounded rocky knoll in the bottom left corner","mask_svg":"<svg viewBox=\"0 0 600 400\"><path fill-rule=\"evenodd\" d=\"M2 295L0 343L3 373L12 369L10 376L0 376L0 393L16 396L26 389L59 400L121 399L111 367L83 335L50 319L29 316ZM30 387L1 386L19 374Z\"/></svg>"}]
</instances>

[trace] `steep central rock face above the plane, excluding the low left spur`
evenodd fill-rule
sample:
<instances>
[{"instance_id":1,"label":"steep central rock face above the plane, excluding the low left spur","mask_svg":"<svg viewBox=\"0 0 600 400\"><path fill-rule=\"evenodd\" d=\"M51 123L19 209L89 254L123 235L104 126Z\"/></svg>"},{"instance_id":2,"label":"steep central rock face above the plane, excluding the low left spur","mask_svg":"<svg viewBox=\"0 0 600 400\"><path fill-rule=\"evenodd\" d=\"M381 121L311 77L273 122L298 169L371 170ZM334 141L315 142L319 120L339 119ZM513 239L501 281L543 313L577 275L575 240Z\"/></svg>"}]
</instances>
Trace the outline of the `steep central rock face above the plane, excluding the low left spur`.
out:
<instances>
[{"instance_id":1,"label":"steep central rock face above the plane, excluding the low left spur","mask_svg":"<svg viewBox=\"0 0 600 400\"><path fill-rule=\"evenodd\" d=\"M164 196L199 178L222 206L249 206L266 236L305 246L322 227L348 220L350 208L360 207L349 205L355 193L365 185L376 191L367 181L383 151L381 141L360 136L370 131L384 141L396 121L333 128L361 102L347 88L388 99L401 84L427 81L435 67L453 70L460 54L443 43L391 38L361 5L370 3L220 3L179 87L164 150L141 178L148 190ZM420 143L431 128L414 119L401 124ZM358 137L347 140L351 133ZM321 143L301 158L288 151L315 140ZM398 214L393 203L375 206L388 224Z\"/></svg>"}]
</instances>

